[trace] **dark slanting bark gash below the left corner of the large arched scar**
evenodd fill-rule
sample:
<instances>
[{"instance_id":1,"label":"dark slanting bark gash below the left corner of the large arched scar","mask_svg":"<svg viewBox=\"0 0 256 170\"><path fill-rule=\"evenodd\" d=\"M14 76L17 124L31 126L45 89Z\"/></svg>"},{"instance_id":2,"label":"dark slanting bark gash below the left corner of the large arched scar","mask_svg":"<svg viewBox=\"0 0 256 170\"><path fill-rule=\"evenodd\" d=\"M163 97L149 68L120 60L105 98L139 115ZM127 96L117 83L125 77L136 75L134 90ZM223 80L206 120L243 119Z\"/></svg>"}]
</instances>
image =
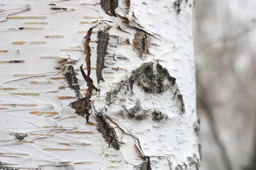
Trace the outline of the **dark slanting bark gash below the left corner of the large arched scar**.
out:
<instances>
[{"instance_id":1,"label":"dark slanting bark gash below the left corner of the large arched scar","mask_svg":"<svg viewBox=\"0 0 256 170\"><path fill-rule=\"evenodd\" d=\"M108 142L108 147L112 147L119 150L118 137L115 134L114 128L108 123L108 121L101 114L96 115L97 130L102 133L106 142Z\"/></svg>"}]
</instances>

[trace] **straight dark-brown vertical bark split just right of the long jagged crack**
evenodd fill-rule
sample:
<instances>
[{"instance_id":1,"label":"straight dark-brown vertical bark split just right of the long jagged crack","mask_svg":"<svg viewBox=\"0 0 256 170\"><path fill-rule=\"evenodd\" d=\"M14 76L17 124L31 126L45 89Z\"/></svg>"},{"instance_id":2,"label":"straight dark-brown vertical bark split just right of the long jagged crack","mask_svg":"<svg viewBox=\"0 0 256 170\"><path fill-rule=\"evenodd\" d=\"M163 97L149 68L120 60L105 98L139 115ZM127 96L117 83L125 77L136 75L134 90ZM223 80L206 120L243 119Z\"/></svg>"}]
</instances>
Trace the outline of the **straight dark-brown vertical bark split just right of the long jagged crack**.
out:
<instances>
[{"instance_id":1,"label":"straight dark-brown vertical bark split just right of the long jagged crack","mask_svg":"<svg viewBox=\"0 0 256 170\"><path fill-rule=\"evenodd\" d=\"M107 54L108 47L108 29L103 31L98 31L98 45L97 45L97 68L96 68L96 76L97 82L99 84L99 80L102 79L102 69L105 68L105 55Z\"/></svg>"}]
</instances>

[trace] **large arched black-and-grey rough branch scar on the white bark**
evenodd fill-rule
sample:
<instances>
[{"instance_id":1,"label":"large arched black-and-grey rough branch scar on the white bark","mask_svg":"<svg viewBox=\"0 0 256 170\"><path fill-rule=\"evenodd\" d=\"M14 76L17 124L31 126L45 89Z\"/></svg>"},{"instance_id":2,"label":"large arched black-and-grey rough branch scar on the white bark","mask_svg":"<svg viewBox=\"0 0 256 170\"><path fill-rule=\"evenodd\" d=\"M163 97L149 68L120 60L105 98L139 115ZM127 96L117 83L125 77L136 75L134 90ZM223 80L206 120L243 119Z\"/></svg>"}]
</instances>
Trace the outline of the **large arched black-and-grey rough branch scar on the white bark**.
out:
<instances>
[{"instance_id":1,"label":"large arched black-and-grey rough branch scar on the white bark","mask_svg":"<svg viewBox=\"0 0 256 170\"><path fill-rule=\"evenodd\" d=\"M176 79L170 76L168 70L163 68L159 63L146 62L139 68L126 74L120 82L117 82L111 91L107 93L106 103L108 106L120 105L119 99L133 98L133 107L126 109L122 106L115 114L116 116L142 121L152 119L154 122L163 122L168 119L165 113L162 113L158 108L145 110L141 106L141 102L137 100L136 94L133 93L133 88L140 88L145 93L157 95L163 92L169 93L172 102L175 102L177 113L185 113L185 105L182 95L180 94Z\"/></svg>"}]
</instances>

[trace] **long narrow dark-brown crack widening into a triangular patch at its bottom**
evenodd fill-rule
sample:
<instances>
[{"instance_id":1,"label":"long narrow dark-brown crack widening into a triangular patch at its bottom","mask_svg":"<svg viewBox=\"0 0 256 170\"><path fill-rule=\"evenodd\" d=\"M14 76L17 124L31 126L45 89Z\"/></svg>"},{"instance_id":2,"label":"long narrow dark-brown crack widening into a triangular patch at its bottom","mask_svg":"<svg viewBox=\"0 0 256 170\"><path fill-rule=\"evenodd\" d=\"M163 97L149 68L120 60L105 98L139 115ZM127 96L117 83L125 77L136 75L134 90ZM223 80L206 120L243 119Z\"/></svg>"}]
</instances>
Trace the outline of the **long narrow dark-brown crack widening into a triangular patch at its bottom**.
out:
<instances>
[{"instance_id":1,"label":"long narrow dark-brown crack widening into a triangular patch at its bottom","mask_svg":"<svg viewBox=\"0 0 256 170\"><path fill-rule=\"evenodd\" d=\"M86 123L89 122L89 116L91 113L89 113L90 109L92 108L91 106L91 96L92 96L92 91L95 89L96 91L99 91L94 85L93 85L93 80L90 78L90 71L91 71L91 61L90 61L90 36L92 34L92 30L95 27L90 28L87 31L87 35L85 36L85 41L84 41L84 53L86 54L85 62L86 62L86 67L87 67L87 75L85 74L83 70L83 65L80 66L80 71L81 74L84 78L84 80L87 82L87 91L85 94L84 98L77 99L75 102L70 103L70 107L76 110L76 113L80 116L85 117Z\"/></svg>"}]
</instances>

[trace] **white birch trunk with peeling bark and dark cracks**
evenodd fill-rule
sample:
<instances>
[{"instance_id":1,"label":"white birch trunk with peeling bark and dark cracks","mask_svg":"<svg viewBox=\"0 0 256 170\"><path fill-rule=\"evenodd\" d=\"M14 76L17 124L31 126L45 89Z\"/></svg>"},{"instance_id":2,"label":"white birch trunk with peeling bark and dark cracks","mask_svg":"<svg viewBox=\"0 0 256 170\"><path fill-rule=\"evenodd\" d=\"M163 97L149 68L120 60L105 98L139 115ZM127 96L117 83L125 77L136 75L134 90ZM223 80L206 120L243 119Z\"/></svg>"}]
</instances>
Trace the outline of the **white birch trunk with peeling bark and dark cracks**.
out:
<instances>
[{"instance_id":1,"label":"white birch trunk with peeling bark and dark cracks","mask_svg":"<svg viewBox=\"0 0 256 170\"><path fill-rule=\"evenodd\" d=\"M3 0L0 169L198 170L191 0Z\"/></svg>"}]
</instances>

